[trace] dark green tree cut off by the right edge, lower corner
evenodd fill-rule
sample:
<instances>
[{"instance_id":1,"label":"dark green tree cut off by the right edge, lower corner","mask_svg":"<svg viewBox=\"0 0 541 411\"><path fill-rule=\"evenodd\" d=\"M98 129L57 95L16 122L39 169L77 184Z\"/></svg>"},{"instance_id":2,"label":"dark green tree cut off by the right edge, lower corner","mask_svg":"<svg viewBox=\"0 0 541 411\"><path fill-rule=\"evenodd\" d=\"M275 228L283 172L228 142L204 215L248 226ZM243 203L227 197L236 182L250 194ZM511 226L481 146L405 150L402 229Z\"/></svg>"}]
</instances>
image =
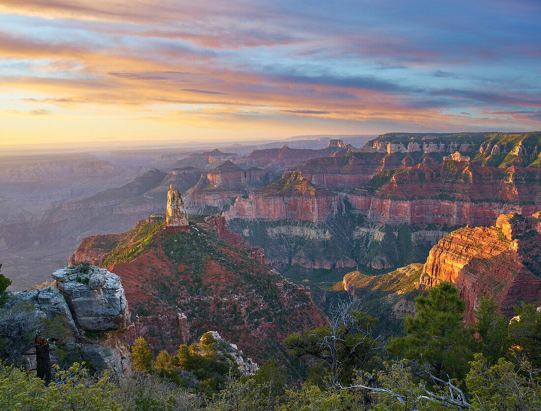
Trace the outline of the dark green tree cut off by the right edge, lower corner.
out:
<instances>
[{"instance_id":1,"label":"dark green tree cut off by the right edge, lower corner","mask_svg":"<svg viewBox=\"0 0 541 411\"><path fill-rule=\"evenodd\" d=\"M541 311L536 304L524 304L514 310L510 323L514 350L524 355L535 368L541 368Z\"/></svg>"}]
</instances>

